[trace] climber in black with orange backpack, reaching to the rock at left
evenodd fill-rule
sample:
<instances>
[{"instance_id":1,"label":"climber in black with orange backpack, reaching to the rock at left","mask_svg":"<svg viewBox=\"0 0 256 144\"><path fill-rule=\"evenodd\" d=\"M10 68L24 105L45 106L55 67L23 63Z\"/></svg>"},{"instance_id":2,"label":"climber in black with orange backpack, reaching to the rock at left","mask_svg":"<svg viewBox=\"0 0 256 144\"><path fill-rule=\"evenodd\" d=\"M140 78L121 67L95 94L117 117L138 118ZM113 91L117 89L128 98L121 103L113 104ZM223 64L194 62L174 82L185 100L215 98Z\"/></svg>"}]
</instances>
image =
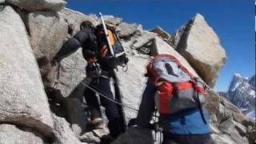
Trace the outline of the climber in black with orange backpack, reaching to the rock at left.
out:
<instances>
[{"instance_id":1,"label":"climber in black with orange backpack, reaching to the rock at left","mask_svg":"<svg viewBox=\"0 0 256 144\"><path fill-rule=\"evenodd\" d=\"M126 54L121 55L119 58L111 58L110 50L106 43L106 34L103 32L102 25L96 27L91 22L82 22L80 31L66 41L62 48L58 51L53 59L53 64L58 64L63 58L66 58L70 54L73 54L79 47L82 47L83 57L87 61L86 66L86 77L91 78L90 87L94 90L98 90L99 93L105 94L110 99L114 99L114 96L110 88L110 78L114 77L114 69L118 65L126 64L128 58ZM108 31L111 35L112 41L116 38L111 30ZM113 49L115 51L121 50L120 44L112 42L114 44ZM122 50L121 50L122 51ZM86 104L90 109L90 124L89 126L93 129L102 129L103 120L100 110L100 104L96 93L86 87L84 91ZM118 106L116 103L110 100L99 97L100 103L106 109L106 117L108 118L108 128L110 134L102 139L102 143L111 142L114 138L117 138L123 131L122 124L120 123L120 113L118 113Z\"/></svg>"}]
</instances>

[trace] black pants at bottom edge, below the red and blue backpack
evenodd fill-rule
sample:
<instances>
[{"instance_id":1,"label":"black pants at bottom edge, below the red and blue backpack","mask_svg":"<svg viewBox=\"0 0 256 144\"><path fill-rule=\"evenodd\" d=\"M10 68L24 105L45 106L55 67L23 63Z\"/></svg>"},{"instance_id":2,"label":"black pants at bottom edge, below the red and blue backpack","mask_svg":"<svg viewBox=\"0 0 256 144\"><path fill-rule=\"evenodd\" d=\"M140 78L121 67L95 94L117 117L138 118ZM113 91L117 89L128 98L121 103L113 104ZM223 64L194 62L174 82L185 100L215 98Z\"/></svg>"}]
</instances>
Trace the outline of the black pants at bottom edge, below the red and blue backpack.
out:
<instances>
[{"instance_id":1,"label":"black pants at bottom edge, below the red and blue backpack","mask_svg":"<svg viewBox=\"0 0 256 144\"><path fill-rule=\"evenodd\" d=\"M210 134L163 134L162 144L211 144Z\"/></svg>"}]
</instances>

